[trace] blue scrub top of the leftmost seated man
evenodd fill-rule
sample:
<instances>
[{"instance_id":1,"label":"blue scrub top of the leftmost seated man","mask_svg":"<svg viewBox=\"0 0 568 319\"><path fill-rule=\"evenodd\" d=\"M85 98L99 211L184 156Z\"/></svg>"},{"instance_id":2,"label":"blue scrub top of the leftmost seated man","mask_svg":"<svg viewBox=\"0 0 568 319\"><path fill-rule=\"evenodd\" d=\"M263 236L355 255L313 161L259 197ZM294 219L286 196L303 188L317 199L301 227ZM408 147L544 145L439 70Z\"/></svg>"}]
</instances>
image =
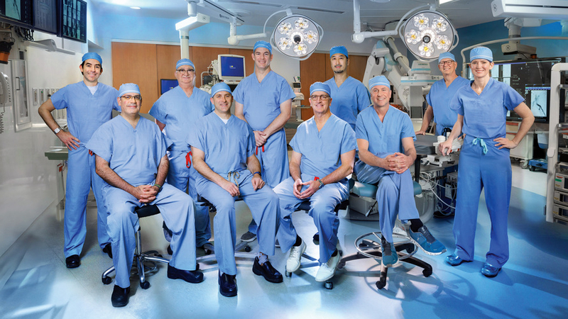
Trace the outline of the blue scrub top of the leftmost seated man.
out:
<instances>
[{"instance_id":1,"label":"blue scrub top of the leftmost seated man","mask_svg":"<svg viewBox=\"0 0 568 319\"><path fill-rule=\"evenodd\" d=\"M122 116L116 116L93 134L86 147L109 162L119 177L135 187L153 183L160 159L165 155L165 139L160 128L142 117L134 129ZM111 187L106 181L104 184Z\"/></svg>"}]
</instances>

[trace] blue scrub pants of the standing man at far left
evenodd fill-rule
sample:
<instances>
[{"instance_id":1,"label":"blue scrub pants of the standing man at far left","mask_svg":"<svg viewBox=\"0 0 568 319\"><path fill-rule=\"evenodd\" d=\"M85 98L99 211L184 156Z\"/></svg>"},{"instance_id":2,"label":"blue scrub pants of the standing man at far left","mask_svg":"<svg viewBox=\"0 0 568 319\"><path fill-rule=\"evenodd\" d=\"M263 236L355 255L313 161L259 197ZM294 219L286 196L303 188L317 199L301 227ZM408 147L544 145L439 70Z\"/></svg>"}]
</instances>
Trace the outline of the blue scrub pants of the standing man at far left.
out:
<instances>
[{"instance_id":1,"label":"blue scrub pants of the standing man at far left","mask_svg":"<svg viewBox=\"0 0 568 319\"><path fill-rule=\"evenodd\" d=\"M87 235L85 215L87 213L87 196L93 189L97 200L97 237L99 246L103 248L111 242L107 234L107 210L102 197L102 178L95 172L94 155L81 146L70 150L67 159L67 182L65 186L65 258L81 254L84 237Z\"/></svg>"}]
</instances>

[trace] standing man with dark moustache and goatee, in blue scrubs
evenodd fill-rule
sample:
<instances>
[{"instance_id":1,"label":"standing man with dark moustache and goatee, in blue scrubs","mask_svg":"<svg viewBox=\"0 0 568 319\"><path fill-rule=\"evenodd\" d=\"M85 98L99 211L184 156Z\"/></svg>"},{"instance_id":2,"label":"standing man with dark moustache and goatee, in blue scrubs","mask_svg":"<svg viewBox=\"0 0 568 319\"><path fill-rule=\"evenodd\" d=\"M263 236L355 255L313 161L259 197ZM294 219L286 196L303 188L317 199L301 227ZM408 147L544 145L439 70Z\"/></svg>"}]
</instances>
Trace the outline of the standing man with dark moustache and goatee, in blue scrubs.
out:
<instances>
[{"instance_id":1,"label":"standing man with dark moustache and goatee, in blue scrubs","mask_svg":"<svg viewBox=\"0 0 568 319\"><path fill-rule=\"evenodd\" d=\"M371 105L368 90L359 80L349 77L349 54L344 46L332 47L329 50L332 62L333 77L325 84L332 90L333 103L329 108L332 113L346 121L355 130L357 114Z\"/></svg>"}]
</instances>

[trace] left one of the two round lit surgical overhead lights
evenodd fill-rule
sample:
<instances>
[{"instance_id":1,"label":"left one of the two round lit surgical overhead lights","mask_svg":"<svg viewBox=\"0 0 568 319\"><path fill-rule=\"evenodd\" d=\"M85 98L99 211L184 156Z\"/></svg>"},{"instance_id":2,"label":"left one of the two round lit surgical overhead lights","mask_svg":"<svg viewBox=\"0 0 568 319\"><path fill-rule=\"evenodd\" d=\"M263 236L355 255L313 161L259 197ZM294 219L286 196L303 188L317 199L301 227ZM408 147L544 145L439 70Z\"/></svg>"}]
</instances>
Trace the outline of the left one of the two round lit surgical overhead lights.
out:
<instances>
[{"instance_id":1,"label":"left one of the two round lit surgical overhead lights","mask_svg":"<svg viewBox=\"0 0 568 319\"><path fill-rule=\"evenodd\" d=\"M276 23L272 31L272 44L288 57L305 60L315 51L322 39L323 29L312 19L291 14Z\"/></svg>"}]
</instances>

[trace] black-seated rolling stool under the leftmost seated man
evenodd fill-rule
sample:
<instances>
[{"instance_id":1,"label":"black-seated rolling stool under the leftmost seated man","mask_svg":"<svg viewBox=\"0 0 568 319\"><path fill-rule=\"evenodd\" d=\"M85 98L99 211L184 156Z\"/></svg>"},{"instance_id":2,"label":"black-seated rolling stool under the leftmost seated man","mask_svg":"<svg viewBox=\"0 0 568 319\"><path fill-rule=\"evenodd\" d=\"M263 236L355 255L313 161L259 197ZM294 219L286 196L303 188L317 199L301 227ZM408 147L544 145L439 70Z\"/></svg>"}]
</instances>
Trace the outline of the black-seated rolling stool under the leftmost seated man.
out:
<instances>
[{"instance_id":1,"label":"black-seated rolling stool under the leftmost seated man","mask_svg":"<svg viewBox=\"0 0 568 319\"><path fill-rule=\"evenodd\" d=\"M148 217L158 215L160 210L158 206L155 205L144 205L134 208L134 213L138 215L138 218ZM136 249L134 250L134 264L136 264L137 274L140 277L140 287L142 289L150 288L150 283L146 281L146 273L155 272L158 269L156 262L163 262L165 264L170 263L170 259L165 259L155 250L150 250L148 252L142 252L142 242L140 229L136 231ZM149 265L148 265L149 264ZM109 274L114 272L114 266L110 267L102 273L102 283L108 285L111 283L112 279Z\"/></svg>"}]
</instances>

